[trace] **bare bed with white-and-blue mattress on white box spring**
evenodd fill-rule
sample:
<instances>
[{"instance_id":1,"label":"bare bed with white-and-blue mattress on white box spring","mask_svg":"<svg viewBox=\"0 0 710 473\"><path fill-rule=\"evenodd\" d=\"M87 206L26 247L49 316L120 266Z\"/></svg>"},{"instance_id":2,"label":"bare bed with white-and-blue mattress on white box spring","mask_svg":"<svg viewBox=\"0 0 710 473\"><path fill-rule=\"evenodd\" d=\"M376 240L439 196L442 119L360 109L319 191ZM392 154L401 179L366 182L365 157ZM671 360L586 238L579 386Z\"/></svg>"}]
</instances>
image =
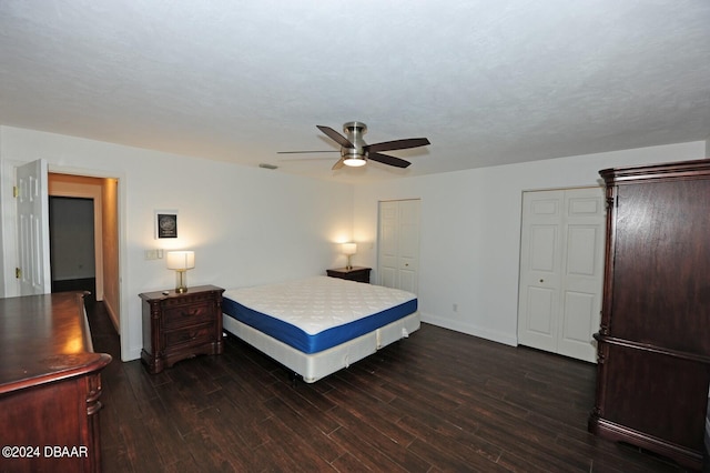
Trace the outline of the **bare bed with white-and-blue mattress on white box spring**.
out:
<instances>
[{"instance_id":1,"label":"bare bed with white-and-blue mattress on white box spring","mask_svg":"<svg viewBox=\"0 0 710 473\"><path fill-rule=\"evenodd\" d=\"M415 294L313 276L227 290L223 328L307 383L419 329Z\"/></svg>"}]
</instances>

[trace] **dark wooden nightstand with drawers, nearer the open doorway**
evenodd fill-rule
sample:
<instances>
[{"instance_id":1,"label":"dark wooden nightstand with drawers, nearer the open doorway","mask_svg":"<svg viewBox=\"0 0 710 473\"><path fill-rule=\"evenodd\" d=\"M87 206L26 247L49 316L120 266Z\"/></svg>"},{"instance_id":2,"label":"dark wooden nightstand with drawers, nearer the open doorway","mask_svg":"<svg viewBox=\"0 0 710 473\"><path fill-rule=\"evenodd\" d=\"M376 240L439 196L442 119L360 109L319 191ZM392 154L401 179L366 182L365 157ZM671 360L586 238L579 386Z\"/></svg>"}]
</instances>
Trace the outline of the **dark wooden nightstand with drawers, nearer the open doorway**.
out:
<instances>
[{"instance_id":1,"label":"dark wooden nightstand with drawers, nearer the open doorway","mask_svg":"<svg viewBox=\"0 0 710 473\"><path fill-rule=\"evenodd\" d=\"M222 342L222 293L214 285L145 292L143 300L143 350L141 361L150 373L160 373L175 362L199 354L220 354Z\"/></svg>"}]
</instances>

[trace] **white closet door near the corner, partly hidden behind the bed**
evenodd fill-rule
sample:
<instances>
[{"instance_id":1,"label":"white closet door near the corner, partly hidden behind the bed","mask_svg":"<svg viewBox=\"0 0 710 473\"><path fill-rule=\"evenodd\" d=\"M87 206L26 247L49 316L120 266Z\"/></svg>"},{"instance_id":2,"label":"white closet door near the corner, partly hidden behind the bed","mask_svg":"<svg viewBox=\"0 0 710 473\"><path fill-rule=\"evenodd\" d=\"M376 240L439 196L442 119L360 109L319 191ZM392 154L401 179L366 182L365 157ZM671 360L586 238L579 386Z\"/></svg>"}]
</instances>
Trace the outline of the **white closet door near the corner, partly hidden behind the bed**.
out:
<instances>
[{"instance_id":1,"label":"white closet door near the corner, partly hidden behind the bed","mask_svg":"<svg viewBox=\"0 0 710 473\"><path fill-rule=\"evenodd\" d=\"M379 283L418 292L419 200L379 203Z\"/></svg>"}]
</instances>

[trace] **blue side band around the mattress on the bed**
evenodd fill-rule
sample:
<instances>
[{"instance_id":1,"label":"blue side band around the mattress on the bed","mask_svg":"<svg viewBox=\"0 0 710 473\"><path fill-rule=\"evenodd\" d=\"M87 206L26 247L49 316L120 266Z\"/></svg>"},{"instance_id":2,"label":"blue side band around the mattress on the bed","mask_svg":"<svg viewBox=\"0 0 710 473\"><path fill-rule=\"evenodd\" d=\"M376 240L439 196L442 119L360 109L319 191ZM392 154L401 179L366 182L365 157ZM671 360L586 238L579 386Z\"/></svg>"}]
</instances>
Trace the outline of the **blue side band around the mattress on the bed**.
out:
<instances>
[{"instance_id":1,"label":"blue side band around the mattress on the bed","mask_svg":"<svg viewBox=\"0 0 710 473\"><path fill-rule=\"evenodd\" d=\"M347 283L362 284L351 281L347 281ZM230 299L229 292L225 293L222 300L222 311L225 315L250 325L298 351L310 354L339 345L341 343L356 339L416 312L417 299L414 296L406 302L341 325L326 328L317 333L307 333L305 330L276 316L247 308Z\"/></svg>"}]
</instances>

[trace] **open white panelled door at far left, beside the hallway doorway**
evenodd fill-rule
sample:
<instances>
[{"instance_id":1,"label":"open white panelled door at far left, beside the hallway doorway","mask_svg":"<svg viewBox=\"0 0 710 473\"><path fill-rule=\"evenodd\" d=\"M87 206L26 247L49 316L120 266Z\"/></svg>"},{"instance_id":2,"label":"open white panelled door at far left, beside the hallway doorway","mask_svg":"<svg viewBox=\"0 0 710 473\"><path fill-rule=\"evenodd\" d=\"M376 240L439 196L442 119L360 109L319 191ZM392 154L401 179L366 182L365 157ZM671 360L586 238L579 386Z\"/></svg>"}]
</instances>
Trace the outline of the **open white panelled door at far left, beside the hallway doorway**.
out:
<instances>
[{"instance_id":1,"label":"open white panelled door at far left, beside the hallway doorway","mask_svg":"<svg viewBox=\"0 0 710 473\"><path fill-rule=\"evenodd\" d=\"M17 168L20 295L51 292L47 161Z\"/></svg>"}]
</instances>

